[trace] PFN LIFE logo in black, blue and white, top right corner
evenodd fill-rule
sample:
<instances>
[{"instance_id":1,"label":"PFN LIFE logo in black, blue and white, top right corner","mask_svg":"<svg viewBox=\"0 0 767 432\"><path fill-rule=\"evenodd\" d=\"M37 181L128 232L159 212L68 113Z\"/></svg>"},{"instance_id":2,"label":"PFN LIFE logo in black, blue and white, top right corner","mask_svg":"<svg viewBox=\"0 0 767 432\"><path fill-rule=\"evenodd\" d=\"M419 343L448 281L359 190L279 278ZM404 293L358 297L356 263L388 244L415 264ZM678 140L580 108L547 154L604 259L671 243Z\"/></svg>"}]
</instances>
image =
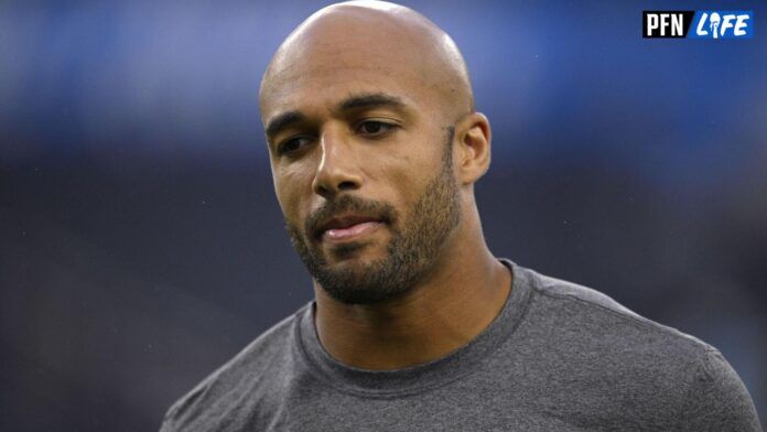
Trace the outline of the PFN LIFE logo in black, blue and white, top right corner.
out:
<instances>
[{"instance_id":1,"label":"PFN LIFE logo in black, blue and white, top right corner","mask_svg":"<svg viewBox=\"0 0 767 432\"><path fill-rule=\"evenodd\" d=\"M750 39L754 11L644 11L642 37Z\"/></svg>"}]
</instances>

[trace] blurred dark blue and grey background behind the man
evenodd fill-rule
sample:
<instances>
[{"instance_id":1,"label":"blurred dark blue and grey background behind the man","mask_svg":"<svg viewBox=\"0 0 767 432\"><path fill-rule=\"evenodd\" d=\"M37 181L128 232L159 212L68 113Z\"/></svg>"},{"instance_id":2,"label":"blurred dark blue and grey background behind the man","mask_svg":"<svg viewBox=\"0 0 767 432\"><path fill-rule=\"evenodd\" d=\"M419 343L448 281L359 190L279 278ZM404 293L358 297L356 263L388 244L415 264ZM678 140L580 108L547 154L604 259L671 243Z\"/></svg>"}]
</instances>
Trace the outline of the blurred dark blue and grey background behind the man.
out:
<instances>
[{"instance_id":1,"label":"blurred dark blue and grey background behind the man","mask_svg":"<svg viewBox=\"0 0 767 432\"><path fill-rule=\"evenodd\" d=\"M767 3L404 3L493 123L493 251L716 346L767 424ZM325 4L0 1L0 430L156 430L311 300L257 91ZM755 36L644 40L653 9Z\"/></svg>"}]
</instances>

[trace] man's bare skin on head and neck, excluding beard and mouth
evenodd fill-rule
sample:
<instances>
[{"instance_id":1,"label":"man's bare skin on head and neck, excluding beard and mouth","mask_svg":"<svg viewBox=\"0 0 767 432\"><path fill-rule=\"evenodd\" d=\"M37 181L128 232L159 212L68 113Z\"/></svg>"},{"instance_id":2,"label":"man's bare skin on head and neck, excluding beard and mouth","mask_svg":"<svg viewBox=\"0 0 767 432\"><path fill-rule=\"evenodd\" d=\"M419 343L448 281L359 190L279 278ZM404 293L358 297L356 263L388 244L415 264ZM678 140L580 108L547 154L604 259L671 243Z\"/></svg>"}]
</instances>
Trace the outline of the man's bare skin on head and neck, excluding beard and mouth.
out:
<instances>
[{"instance_id":1,"label":"man's bare skin on head and neck, excluding beard and mouth","mask_svg":"<svg viewBox=\"0 0 767 432\"><path fill-rule=\"evenodd\" d=\"M399 104L343 107L370 95ZM510 272L487 248L474 197L474 183L490 163L490 126L475 111L464 61L441 29L391 3L322 9L278 50L260 105L285 223L333 270L363 274L386 257L398 229L413 226L413 208L430 184L449 179L455 185L456 224L445 225L412 287L355 304L328 294L315 278L315 325L333 358L375 370L415 366L489 325L511 287ZM346 249L302 229L345 196L384 203L399 217Z\"/></svg>"}]
</instances>

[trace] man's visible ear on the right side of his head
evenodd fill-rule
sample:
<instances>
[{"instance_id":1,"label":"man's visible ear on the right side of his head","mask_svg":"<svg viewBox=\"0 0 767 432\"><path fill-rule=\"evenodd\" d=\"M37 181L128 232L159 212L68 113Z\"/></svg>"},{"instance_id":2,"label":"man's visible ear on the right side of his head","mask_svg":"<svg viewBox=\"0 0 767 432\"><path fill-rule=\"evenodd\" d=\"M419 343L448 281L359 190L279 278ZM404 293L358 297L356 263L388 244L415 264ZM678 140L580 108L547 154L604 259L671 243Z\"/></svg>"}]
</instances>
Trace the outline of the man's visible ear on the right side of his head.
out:
<instances>
[{"instance_id":1,"label":"man's visible ear on the right side of his head","mask_svg":"<svg viewBox=\"0 0 767 432\"><path fill-rule=\"evenodd\" d=\"M490 121L472 112L455 125L454 165L461 184L475 183L490 168Z\"/></svg>"}]
</instances>

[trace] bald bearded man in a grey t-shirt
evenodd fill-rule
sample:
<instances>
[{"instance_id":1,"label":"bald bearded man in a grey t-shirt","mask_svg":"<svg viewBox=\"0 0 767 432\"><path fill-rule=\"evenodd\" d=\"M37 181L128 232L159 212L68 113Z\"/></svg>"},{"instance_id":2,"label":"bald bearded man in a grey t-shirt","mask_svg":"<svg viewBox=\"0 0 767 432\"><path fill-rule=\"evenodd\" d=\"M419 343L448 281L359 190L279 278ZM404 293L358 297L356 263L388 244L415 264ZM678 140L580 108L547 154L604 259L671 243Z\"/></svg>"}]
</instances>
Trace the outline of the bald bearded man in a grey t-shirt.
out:
<instances>
[{"instance_id":1,"label":"bald bearded man in a grey t-shirt","mask_svg":"<svg viewBox=\"0 0 767 432\"><path fill-rule=\"evenodd\" d=\"M162 431L758 431L713 347L485 244L490 126L451 37L347 2L261 82L274 191L315 300Z\"/></svg>"}]
</instances>

